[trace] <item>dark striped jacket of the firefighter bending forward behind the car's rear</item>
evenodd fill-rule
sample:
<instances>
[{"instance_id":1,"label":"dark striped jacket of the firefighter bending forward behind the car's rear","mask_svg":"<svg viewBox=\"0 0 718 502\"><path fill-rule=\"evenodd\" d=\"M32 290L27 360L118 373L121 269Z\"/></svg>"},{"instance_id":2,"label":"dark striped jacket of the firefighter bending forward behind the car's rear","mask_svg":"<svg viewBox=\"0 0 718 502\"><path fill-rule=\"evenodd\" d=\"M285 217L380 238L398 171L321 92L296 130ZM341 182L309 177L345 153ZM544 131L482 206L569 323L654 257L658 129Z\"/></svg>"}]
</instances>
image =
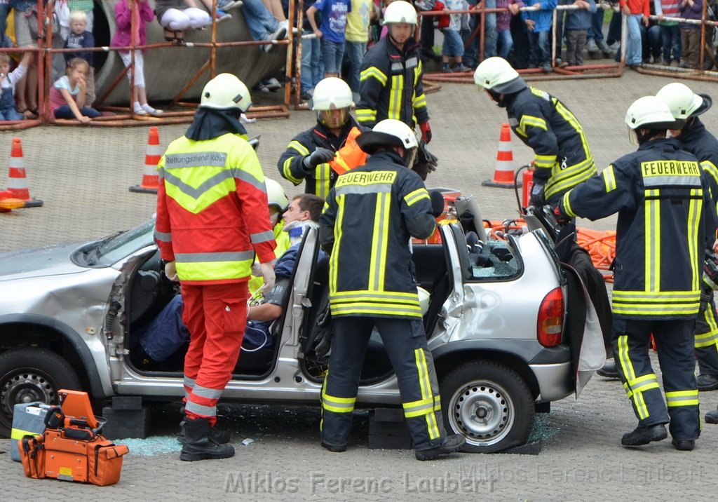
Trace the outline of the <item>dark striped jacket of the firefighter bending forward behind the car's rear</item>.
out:
<instances>
[{"instance_id":1,"label":"dark striped jacket of the firefighter bending forward behind the car's rear","mask_svg":"<svg viewBox=\"0 0 718 502\"><path fill-rule=\"evenodd\" d=\"M533 177L546 185L546 200L556 200L596 174L583 127L558 98L529 87L506 101L511 129L533 149Z\"/></svg>"}]
</instances>

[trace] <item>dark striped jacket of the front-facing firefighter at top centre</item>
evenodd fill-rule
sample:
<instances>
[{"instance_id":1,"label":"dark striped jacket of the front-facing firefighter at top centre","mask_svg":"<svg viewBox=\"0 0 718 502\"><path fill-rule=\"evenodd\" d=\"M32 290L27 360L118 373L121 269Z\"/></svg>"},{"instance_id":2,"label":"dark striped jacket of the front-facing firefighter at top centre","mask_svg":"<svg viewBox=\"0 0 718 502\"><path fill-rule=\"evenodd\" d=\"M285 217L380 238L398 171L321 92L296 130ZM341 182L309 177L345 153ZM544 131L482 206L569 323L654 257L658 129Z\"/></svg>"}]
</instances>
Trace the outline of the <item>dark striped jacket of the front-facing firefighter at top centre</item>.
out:
<instances>
[{"instance_id":1,"label":"dark striped jacket of the front-facing firefighter at top centre","mask_svg":"<svg viewBox=\"0 0 718 502\"><path fill-rule=\"evenodd\" d=\"M384 37L364 55L356 110L359 124L373 127L385 118L396 118L414 129L429 121L419 45L409 38L404 47L400 52Z\"/></svg>"}]
</instances>

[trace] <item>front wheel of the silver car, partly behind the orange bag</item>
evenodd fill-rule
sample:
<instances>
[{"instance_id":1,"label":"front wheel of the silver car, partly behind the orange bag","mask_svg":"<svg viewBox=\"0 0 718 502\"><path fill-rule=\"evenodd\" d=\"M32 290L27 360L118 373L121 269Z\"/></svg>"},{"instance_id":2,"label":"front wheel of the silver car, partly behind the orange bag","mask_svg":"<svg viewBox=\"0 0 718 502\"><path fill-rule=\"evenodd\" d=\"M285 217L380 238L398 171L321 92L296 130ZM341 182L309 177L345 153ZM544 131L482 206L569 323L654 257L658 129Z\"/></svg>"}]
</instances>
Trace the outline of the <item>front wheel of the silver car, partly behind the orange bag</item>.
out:
<instances>
[{"instance_id":1,"label":"front wheel of the silver car, partly behind the orange bag","mask_svg":"<svg viewBox=\"0 0 718 502\"><path fill-rule=\"evenodd\" d=\"M57 404L60 389L80 389L73 367L42 348L17 348L0 354L0 434L9 437L15 404Z\"/></svg>"}]
</instances>

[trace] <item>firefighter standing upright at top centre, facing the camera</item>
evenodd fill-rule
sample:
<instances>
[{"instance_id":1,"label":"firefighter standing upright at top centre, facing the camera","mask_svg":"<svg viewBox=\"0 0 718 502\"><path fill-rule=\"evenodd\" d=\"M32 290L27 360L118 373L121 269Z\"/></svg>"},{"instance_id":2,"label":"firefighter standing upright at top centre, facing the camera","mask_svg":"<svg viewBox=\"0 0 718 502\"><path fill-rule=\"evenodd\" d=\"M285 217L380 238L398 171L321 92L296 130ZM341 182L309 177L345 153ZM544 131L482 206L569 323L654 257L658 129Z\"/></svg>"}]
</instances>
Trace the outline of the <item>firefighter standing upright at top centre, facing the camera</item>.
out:
<instances>
[{"instance_id":1,"label":"firefighter standing upright at top centre, facing the camera","mask_svg":"<svg viewBox=\"0 0 718 502\"><path fill-rule=\"evenodd\" d=\"M432 140L426 94L421 83L419 44L411 37L416 29L416 9L395 0L386 7L386 37L364 55L359 75L357 121L373 127L385 118L395 118L411 129L419 124L421 139Z\"/></svg>"}]
</instances>

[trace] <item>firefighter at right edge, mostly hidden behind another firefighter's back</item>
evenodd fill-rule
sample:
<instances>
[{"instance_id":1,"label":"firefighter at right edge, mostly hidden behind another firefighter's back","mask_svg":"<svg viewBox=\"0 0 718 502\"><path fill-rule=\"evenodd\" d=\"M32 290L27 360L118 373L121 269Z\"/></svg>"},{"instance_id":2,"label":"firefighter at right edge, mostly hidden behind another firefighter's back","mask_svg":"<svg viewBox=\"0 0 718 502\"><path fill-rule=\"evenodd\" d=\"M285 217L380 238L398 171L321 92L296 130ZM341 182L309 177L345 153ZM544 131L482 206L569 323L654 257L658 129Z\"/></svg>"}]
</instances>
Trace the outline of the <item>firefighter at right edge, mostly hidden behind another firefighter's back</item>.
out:
<instances>
[{"instance_id":1,"label":"firefighter at right edge, mostly hidden behind another firefighter's back","mask_svg":"<svg viewBox=\"0 0 718 502\"><path fill-rule=\"evenodd\" d=\"M706 129L699 115L713 104L710 96L694 93L687 85L673 82L664 85L656 93L671 108L673 118L684 120L681 129L671 130L671 136L681 148L696 156L706 173L714 204L718 204L718 139ZM711 236L707 236L710 240ZM711 264L708 264L709 266ZM696 356L700 374L696 378L699 391L718 389L718 322L712 286L703 284L701 310L696 319ZM712 412L711 412L712 413Z\"/></svg>"}]
</instances>

